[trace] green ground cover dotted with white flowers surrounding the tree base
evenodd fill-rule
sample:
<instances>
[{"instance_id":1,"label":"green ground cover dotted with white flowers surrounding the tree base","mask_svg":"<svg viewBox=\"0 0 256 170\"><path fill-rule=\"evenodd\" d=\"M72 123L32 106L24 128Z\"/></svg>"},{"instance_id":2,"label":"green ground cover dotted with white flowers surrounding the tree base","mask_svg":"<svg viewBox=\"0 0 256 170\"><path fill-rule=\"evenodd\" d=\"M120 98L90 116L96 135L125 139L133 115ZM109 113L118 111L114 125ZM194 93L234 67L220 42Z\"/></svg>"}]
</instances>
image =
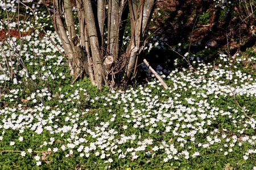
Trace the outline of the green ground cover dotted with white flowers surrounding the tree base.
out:
<instances>
[{"instance_id":1,"label":"green ground cover dotted with white flowers surrounding the tree base","mask_svg":"<svg viewBox=\"0 0 256 170\"><path fill-rule=\"evenodd\" d=\"M46 12L36 15L49 27ZM1 169L255 168L252 49L189 60L162 75L167 90L152 77L99 92L88 79L73 83L56 33L40 34L35 21L19 26L34 32L0 48Z\"/></svg>"}]
</instances>

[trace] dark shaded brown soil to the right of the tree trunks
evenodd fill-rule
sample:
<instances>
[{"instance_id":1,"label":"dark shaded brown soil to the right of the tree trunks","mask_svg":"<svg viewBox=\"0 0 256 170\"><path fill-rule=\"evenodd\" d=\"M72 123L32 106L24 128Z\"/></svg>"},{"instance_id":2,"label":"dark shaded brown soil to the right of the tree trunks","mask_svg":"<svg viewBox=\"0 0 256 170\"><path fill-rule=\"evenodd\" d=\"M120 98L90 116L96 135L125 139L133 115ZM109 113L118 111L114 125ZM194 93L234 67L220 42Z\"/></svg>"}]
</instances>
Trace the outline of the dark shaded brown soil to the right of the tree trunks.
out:
<instances>
[{"instance_id":1,"label":"dark shaded brown soil to the right of the tree trunks","mask_svg":"<svg viewBox=\"0 0 256 170\"><path fill-rule=\"evenodd\" d=\"M189 52L203 62L213 62L220 52L233 56L253 46L256 52L255 1L230 2L158 0L149 29L152 37L167 38L166 49L155 48L144 57L154 69L160 65L172 70L174 59L181 58L176 52ZM145 75L139 77L144 79Z\"/></svg>"}]
</instances>

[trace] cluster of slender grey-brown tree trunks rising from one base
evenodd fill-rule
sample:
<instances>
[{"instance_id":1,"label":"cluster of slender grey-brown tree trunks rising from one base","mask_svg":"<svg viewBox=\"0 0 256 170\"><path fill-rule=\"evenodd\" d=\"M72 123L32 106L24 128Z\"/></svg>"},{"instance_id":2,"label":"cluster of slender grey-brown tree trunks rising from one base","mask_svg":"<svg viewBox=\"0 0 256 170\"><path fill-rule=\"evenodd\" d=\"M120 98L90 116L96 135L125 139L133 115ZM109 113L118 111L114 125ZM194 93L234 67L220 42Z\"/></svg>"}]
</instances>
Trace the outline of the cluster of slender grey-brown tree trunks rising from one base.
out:
<instances>
[{"instance_id":1,"label":"cluster of slender grey-brown tree trunks rising from one base","mask_svg":"<svg viewBox=\"0 0 256 170\"><path fill-rule=\"evenodd\" d=\"M54 0L53 23L71 75L88 76L100 89L103 84L113 86L115 74L125 74L126 80L133 78L155 3L156 0L76 0L74 11L71 0ZM75 19L79 22L78 31ZM123 50L127 25L131 37Z\"/></svg>"}]
</instances>

